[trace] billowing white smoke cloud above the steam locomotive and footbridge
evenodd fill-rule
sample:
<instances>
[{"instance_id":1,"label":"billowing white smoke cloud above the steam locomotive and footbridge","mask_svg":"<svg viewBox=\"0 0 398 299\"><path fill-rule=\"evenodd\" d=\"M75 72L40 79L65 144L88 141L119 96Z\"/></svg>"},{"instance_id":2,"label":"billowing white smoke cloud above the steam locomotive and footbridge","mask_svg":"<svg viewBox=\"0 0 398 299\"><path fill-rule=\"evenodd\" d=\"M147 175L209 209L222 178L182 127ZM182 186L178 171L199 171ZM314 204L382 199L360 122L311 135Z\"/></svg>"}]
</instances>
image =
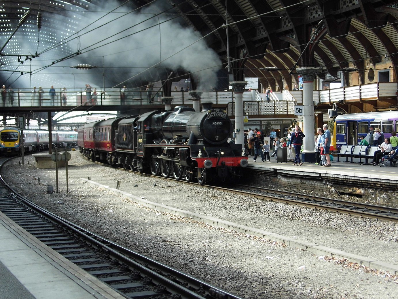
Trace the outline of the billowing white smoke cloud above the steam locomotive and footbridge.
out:
<instances>
[{"instance_id":1,"label":"billowing white smoke cloud above the steam locomotive and footbridge","mask_svg":"<svg viewBox=\"0 0 398 299\"><path fill-rule=\"evenodd\" d=\"M69 87L72 85L82 87L85 83L90 83L92 86L102 87L102 72L105 73L106 87L110 84L106 80L109 76L113 76L112 82L126 85L123 82L130 78L132 78L131 81L135 79L153 81L156 79L154 69L166 74L166 68L184 69L191 72L191 76L197 82L197 89L209 90L211 86L217 85L216 72L221 64L217 53L208 47L205 39L198 41L201 37L197 32L186 24L182 26L181 18L170 20L176 16L175 10L153 17L162 12L164 7L152 6L130 12L131 8L122 6L105 16L105 12L113 10L119 4L113 1L104 3L106 3L104 8L97 9L100 12L84 12L84 17L80 20L76 13L69 13L70 16L66 19L76 21L77 24L69 24L77 27L75 30L80 38L66 41L62 47L71 51L80 49L82 54L55 63L32 76L32 85L63 87L62 85L68 84ZM127 12L130 13L127 14ZM114 20L118 17L121 18ZM89 24L92 25L88 26ZM101 24L104 25L98 28ZM88 28L83 29L86 26ZM89 32L90 30L92 31ZM90 49L92 50L88 51ZM39 52L42 50L39 48ZM36 61L35 59L32 61L38 65L51 65L51 61L63 58L55 57L55 53L51 51L41 55ZM66 55L68 53L65 53ZM38 61L41 63L37 63ZM86 71L68 68L80 63L96 65L98 68ZM139 73L141 74L137 75ZM25 78L27 79L27 76ZM61 85L57 86L59 84Z\"/></svg>"}]
</instances>

